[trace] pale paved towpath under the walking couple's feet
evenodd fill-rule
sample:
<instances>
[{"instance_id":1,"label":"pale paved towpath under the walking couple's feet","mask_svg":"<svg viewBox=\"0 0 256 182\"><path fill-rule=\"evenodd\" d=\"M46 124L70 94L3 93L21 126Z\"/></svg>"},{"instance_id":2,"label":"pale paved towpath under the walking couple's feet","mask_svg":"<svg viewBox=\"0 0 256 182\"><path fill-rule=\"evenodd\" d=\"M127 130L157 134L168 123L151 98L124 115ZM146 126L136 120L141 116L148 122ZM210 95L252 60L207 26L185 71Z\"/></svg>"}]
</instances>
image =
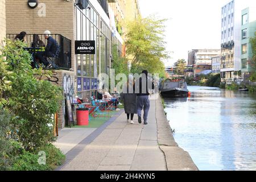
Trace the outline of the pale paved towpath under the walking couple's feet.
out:
<instances>
[{"instance_id":1,"label":"pale paved towpath under the walking couple's feet","mask_svg":"<svg viewBox=\"0 0 256 182\"><path fill-rule=\"evenodd\" d=\"M64 138L60 139L56 145L60 148L66 146L65 151L68 152L65 164L57 170L167 170L165 156L158 146L155 96L150 98L150 104L148 125L139 124L137 115L135 124L127 123L126 114L122 111L100 129L86 131L84 135L87 137L81 142L73 140L76 146L72 149L74 143L67 148Z\"/></svg>"}]
</instances>

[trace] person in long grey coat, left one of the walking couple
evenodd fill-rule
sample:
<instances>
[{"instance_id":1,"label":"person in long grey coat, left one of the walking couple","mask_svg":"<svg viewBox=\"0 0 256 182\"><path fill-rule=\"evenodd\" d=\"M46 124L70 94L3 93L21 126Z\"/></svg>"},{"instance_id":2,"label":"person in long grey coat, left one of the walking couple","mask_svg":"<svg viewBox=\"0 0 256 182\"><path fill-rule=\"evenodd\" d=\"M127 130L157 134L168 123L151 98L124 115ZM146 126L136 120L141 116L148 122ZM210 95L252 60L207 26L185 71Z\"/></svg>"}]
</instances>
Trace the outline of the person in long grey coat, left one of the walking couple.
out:
<instances>
[{"instance_id":1,"label":"person in long grey coat, left one of the walking couple","mask_svg":"<svg viewBox=\"0 0 256 182\"><path fill-rule=\"evenodd\" d=\"M134 114L137 114L137 94L135 94L135 81L132 75L129 75L129 80L126 85L127 86L123 86L121 100L123 100L125 107L127 122L133 124Z\"/></svg>"}]
</instances>

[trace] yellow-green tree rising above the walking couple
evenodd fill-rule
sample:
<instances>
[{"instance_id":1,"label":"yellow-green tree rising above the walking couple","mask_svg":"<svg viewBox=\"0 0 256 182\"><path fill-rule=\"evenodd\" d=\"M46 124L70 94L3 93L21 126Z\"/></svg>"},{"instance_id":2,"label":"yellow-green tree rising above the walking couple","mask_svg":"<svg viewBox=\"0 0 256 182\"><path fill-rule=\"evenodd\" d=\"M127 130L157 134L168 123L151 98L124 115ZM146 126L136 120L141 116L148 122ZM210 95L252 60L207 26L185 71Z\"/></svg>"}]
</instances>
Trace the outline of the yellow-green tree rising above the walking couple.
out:
<instances>
[{"instance_id":1,"label":"yellow-green tree rising above the walking couple","mask_svg":"<svg viewBox=\"0 0 256 182\"><path fill-rule=\"evenodd\" d=\"M168 58L164 42L165 19L154 16L137 19L127 23L127 54L131 57L131 72L140 73L147 69L149 73L164 76L164 64L161 60Z\"/></svg>"}]
</instances>

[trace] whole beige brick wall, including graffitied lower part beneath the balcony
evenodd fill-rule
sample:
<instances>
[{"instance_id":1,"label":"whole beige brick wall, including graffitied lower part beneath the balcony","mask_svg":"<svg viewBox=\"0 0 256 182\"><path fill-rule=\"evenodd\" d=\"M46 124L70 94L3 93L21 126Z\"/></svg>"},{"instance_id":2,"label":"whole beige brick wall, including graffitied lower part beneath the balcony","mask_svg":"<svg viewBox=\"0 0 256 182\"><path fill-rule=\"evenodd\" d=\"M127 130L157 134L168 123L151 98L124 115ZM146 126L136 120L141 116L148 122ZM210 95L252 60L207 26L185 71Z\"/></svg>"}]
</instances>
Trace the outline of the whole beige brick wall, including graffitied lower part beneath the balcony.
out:
<instances>
[{"instance_id":1,"label":"whole beige brick wall, including graffitied lower part beneath the balcony","mask_svg":"<svg viewBox=\"0 0 256 182\"><path fill-rule=\"evenodd\" d=\"M2 2L3 0L0 0ZM2 5L0 6L0 10ZM0 11L0 15L2 10ZM1 23L1 19L0 19ZM27 1L6 1L6 33L18 34L26 31L27 34L43 34L45 30L52 34L61 34L72 41L72 68L76 71L75 63L75 38L76 38L76 15L73 1L64 0L40 0L38 7L30 9ZM1 37L0 37L1 38ZM64 87L65 92L75 94L75 72L53 71L53 84ZM68 80L67 80L68 79ZM70 86L69 86L70 85ZM72 87L73 86L73 87ZM64 101L59 111L59 127L65 125Z\"/></svg>"}]
</instances>

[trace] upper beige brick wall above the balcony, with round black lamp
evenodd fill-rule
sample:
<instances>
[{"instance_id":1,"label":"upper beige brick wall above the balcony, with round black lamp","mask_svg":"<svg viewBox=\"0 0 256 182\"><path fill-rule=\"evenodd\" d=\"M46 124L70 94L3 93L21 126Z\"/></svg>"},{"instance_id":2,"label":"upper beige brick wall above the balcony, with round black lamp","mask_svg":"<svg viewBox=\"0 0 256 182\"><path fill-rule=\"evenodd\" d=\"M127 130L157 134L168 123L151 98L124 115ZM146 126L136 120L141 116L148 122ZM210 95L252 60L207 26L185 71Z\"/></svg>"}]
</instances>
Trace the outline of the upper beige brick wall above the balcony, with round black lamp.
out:
<instances>
[{"instance_id":1,"label":"upper beige brick wall above the balcony, with round black lamp","mask_svg":"<svg viewBox=\"0 0 256 182\"><path fill-rule=\"evenodd\" d=\"M43 34L45 30L72 40L72 68L74 69L73 42L76 37L76 19L73 1L41 0L35 9L30 9L27 1L24 0L6 1L7 34L17 34L21 31L26 31L28 34Z\"/></svg>"}]
</instances>

